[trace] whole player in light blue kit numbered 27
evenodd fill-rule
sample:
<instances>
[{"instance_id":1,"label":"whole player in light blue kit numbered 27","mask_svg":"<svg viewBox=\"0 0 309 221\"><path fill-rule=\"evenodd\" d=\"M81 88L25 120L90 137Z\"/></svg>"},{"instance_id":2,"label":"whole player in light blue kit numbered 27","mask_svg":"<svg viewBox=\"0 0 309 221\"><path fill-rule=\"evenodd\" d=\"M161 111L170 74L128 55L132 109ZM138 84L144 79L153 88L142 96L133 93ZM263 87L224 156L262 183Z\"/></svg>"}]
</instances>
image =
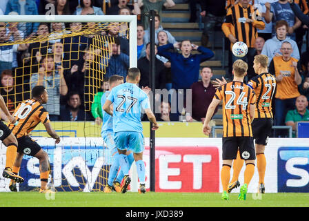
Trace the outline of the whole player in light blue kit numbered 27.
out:
<instances>
[{"instance_id":1,"label":"whole player in light blue kit numbered 27","mask_svg":"<svg viewBox=\"0 0 309 221\"><path fill-rule=\"evenodd\" d=\"M143 162L143 151L145 149L143 141L143 126L141 124L141 108L144 109L148 119L152 122L152 130L157 130L156 117L150 109L148 96L137 84L141 79L138 68L130 68L126 77L126 83L112 88L110 95L103 105L103 110L112 115L114 128L114 142L119 152L119 164L124 174L121 193L126 193L131 182L129 177L130 166L128 164L127 151L132 151L137 165L137 175L139 177L139 193L146 193L145 163ZM113 111L110 105L113 104Z\"/></svg>"}]
</instances>

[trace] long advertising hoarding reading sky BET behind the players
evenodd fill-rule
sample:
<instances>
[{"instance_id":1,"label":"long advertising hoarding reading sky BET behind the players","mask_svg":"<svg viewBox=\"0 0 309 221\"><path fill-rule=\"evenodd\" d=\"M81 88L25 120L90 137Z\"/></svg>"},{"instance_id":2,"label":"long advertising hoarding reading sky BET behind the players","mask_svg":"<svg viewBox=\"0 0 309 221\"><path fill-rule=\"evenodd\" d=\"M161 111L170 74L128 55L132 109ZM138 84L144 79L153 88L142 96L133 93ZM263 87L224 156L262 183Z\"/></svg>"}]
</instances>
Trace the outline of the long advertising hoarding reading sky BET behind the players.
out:
<instances>
[{"instance_id":1,"label":"long advertising hoarding reading sky BET behind the players","mask_svg":"<svg viewBox=\"0 0 309 221\"><path fill-rule=\"evenodd\" d=\"M35 138L50 156L52 183L58 191L98 191L108 177L111 158L100 138L64 137L55 145L50 138ZM149 139L146 138L146 187L149 188ZM266 147L266 193L309 192L309 139L271 138ZM6 160L6 147L0 147L0 171ZM221 170L221 138L157 138L156 191L219 192ZM232 170L231 170L232 171ZM239 175L243 183L244 166ZM137 175L130 171L132 191L137 191ZM21 191L40 185L39 160L24 157L21 173L25 182ZM257 191L257 169L248 191ZM0 175L0 191L9 191L9 180ZM233 190L238 192L239 189Z\"/></svg>"}]
</instances>

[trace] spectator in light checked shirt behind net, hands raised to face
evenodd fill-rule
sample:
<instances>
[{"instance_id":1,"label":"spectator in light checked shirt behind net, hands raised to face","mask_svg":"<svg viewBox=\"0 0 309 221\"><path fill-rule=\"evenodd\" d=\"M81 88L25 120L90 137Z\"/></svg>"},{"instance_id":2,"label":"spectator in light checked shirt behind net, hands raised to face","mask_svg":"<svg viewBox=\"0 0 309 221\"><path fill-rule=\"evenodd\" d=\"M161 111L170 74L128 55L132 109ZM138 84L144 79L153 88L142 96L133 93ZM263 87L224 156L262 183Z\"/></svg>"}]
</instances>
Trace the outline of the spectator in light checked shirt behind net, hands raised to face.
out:
<instances>
[{"instance_id":1,"label":"spectator in light checked shirt behind net, hands raised to face","mask_svg":"<svg viewBox=\"0 0 309 221\"><path fill-rule=\"evenodd\" d=\"M31 75L31 88L34 86L45 86L48 92L48 102L43 105L48 111L50 120L60 119L60 95L65 96L68 93L68 86L63 77L63 68L58 67L54 70L54 55L46 55L41 59L41 68L39 73Z\"/></svg>"}]
</instances>

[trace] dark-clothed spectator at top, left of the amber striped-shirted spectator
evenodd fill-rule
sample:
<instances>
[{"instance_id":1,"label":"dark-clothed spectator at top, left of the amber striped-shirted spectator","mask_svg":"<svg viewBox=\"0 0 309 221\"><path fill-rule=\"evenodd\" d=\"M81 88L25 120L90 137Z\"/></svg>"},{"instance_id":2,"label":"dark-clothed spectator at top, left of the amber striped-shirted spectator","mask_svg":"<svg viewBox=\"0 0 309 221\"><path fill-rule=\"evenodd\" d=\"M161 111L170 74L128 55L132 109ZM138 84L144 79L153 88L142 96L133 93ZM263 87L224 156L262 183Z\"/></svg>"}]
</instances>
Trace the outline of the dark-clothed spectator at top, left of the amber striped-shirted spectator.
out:
<instances>
[{"instance_id":1,"label":"dark-clothed spectator at top, left of the amber striped-shirted spectator","mask_svg":"<svg viewBox=\"0 0 309 221\"><path fill-rule=\"evenodd\" d=\"M226 15L226 0L202 0L201 17L204 30L201 37L201 45L207 47L209 37L215 38L215 27L222 24ZM215 39L213 40L215 42Z\"/></svg>"}]
</instances>

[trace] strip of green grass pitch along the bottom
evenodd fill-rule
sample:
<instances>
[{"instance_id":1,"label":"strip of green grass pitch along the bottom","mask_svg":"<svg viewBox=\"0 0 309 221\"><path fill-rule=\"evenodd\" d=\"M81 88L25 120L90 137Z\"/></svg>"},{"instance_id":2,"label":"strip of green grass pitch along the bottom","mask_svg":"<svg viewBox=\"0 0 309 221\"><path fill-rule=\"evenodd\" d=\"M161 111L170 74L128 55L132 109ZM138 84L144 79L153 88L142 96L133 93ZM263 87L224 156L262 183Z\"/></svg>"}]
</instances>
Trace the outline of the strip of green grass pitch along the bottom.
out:
<instances>
[{"instance_id":1,"label":"strip of green grass pitch along the bottom","mask_svg":"<svg viewBox=\"0 0 309 221\"><path fill-rule=\"evenodd\" d=\"M231 193L230 200L221 200L221 193L77 193L58 192L54 200L37 192L0 193L1 207L308 207L309 193L266 193L261 200L247 194L246 201L237 200Z\"/></svg>"}]
</instances>

